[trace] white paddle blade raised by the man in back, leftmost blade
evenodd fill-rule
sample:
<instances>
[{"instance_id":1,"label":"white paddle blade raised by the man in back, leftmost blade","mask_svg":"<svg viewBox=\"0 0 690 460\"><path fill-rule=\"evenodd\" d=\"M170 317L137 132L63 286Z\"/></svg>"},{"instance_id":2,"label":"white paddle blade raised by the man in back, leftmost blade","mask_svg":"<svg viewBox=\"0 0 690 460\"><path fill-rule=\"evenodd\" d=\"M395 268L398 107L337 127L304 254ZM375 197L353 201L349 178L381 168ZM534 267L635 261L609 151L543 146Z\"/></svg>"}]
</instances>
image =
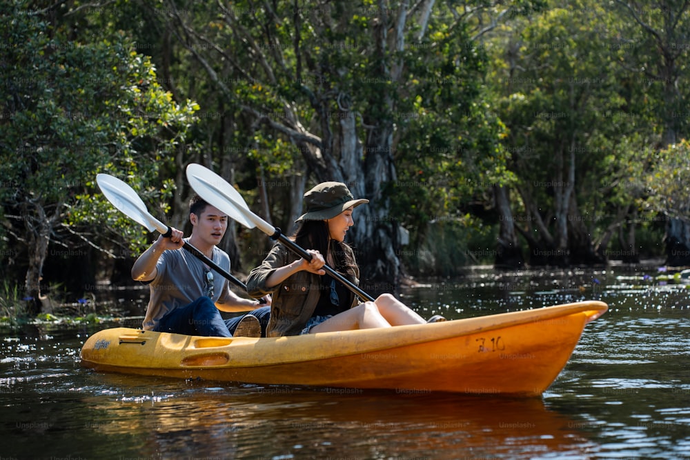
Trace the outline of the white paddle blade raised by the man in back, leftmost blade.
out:
<instances>
[{"instance_id":1,"label":"white paddle blade raised by the man in back, leftmost blade","mask_svg":"<svg viewBox=\"0 0 690 460\"><path fill-rule=\"evenodd\" d=\"M117 210L136 223L146 227L149 232L158 230L165 233L168 230L164 223L149 214L144 201L141 201L137 192L126 183L110 174L98 174L96 182L112 206L115 206Z\"/></svg>"}]
</instances>

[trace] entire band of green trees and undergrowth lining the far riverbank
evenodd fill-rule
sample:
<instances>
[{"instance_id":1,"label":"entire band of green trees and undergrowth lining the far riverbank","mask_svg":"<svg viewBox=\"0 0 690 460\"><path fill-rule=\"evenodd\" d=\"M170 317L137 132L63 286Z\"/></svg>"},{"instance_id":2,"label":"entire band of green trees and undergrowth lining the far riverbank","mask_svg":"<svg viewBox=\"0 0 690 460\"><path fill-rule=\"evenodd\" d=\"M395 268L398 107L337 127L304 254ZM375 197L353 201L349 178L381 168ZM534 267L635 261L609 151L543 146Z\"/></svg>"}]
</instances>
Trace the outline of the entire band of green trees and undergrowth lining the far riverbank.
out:
<instances>
[{"instance_id":1,"label":"entire band of green trees and undergrowth lining the far riverbank","mask_svg":"<svg viewBox=\"0 0 690 460\"><path fill-rule=\"evenodd\" d=\"M28 314L50 286L76 302L131 283L155 235L95 176L188 230L188 163L286 232L313 183L370 199L351 243L373 293L476 263L688 266L688 8L5 2L3 279ZM270 244L231 225L223 246L242 273Z\"/></svg>"}]
</instances>

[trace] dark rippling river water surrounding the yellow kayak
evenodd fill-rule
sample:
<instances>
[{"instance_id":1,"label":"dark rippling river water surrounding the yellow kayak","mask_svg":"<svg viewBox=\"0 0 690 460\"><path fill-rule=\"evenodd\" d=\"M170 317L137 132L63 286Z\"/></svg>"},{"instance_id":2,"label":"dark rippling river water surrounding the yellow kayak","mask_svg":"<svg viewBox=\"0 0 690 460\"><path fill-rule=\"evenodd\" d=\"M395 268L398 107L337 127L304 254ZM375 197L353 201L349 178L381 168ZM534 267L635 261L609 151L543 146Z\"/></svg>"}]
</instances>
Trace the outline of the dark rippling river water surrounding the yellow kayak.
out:
<instances>
[{"instance_id":1,"label":"dark rippling river water surrounding the yellow kayak","mask_svg":"<svg viewBox=\"0 0 690 460\"><path fill-rule=\"evenodd\" d=\"M80 366L83 341L140 319L4 328L0 458L690 458L690 290L666 278L653 267L478 268L404 292L424 316L449 318L609 303L531 399L99 374Z\"/></svg>"}]
</instances>

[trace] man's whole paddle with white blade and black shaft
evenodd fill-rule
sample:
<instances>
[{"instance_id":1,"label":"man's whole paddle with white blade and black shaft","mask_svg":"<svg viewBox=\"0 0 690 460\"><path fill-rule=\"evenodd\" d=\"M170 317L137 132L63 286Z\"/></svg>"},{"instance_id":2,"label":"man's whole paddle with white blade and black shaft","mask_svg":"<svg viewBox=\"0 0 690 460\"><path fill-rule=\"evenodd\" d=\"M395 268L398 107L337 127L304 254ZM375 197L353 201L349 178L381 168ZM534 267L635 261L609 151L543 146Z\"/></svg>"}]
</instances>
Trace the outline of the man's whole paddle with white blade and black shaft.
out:
<instances>
[{"instance_id":1,"label":"man's whole paddle with white blade and black shaft","mask_svg":"<svg viewBox=\"0 0 690 460\"><path fill-rule=\"evenodd\" d=\"M96 182L98 183L99 188L101 188L103 195L105 195L108 201L112 203L112 206L115 206L115 208L123 212L133 221L148 228L149 232L158 230L161 232L161 234L163 234L164 237L170 237L172 229L153 217L146 209L144 201L141 201L141 198L139 198L139 195L137 195L137 192L135 192L134 189L132 189L126 183L120 179L117 179L117 177L112 177L110 174L98 174L96 176ZM232 274L226 272L226 270L206 257L203 252L192 246L188 241L185 241L182 247L190 252L193 256L197 257L197 259L213 268L213 270L220 273L226 279L232 281L245 291L247 290L246 284L233 277ZM262 303L266 303L264 299L261 299L260 301Z\"/></svg>"}]
</instances>

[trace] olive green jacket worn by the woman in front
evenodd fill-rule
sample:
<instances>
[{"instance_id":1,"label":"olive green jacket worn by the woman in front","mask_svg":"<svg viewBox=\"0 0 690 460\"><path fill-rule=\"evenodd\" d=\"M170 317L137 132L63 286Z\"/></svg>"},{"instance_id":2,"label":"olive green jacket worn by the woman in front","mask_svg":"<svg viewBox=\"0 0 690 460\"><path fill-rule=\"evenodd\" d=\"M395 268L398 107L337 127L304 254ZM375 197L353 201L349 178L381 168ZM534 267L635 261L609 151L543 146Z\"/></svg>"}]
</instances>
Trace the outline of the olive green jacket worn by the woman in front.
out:
<instances>
[{"instance_id":1,"label":"olive green jacket worn by the woman in front","mask_svg":"<svg viewBox=\"0 0 690 460\"><path fill-rule=\"evenodd\" d=\"M345 246L354 260L354 254L349 246ZM302 270L297 272L278 286L266 287L266 280L275 269L284 267L299 256L288 250L282 243L275 243L266 259L260 266L249 273L247 278L247 292L252 297L263 297L271 294L270 320L266 330L267 337L282 337L284 335L299 335L313 316L319 296L321 295L320 275ZM355 267L353 283L359 283L359 270ZM350 308L356 306L357 296L352 296Z\"/></svg>"}]
</instances>

